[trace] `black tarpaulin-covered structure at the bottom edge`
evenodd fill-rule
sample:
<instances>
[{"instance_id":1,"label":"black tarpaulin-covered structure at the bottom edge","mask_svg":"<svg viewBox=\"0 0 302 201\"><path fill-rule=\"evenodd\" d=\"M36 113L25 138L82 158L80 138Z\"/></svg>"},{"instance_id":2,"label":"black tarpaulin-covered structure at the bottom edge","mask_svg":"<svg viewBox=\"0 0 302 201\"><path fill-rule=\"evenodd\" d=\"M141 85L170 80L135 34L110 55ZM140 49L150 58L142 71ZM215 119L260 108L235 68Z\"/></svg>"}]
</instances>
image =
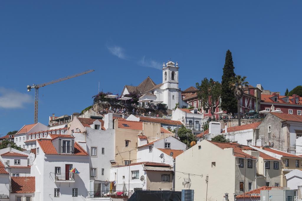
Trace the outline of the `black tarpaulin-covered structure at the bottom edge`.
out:
<instances>
[{"instance_id":1,"label":"black tarpaulin-covered structure at the bottom edge","mask_svg":"<svg viewBox=\"0 0 302 201\"><path fill-rule=\"evenodd\" d=\"M137 190L128 201L181 201L181 191Z\"/></svg>"}]
</instances>

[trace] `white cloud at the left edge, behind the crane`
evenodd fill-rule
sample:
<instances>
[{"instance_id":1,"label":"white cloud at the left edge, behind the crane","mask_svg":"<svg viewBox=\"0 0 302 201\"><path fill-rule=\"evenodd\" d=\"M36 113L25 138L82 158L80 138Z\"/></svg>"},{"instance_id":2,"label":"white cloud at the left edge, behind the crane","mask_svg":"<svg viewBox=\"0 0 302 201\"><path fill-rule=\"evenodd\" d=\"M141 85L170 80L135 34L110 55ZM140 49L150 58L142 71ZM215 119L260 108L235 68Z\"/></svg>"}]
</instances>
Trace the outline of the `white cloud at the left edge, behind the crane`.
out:
<instances>
[{"instance_id":1,"label":"white cloud at the left edge, behind the crane","mask_svg":"<svg viewBox=\"0 0 302 201\"><path fill-rule=\"evenodd\" d=\"M29 102L32 102L30 95L0 87L0 108L23 108Z\"/></svg>"}]
</instances>

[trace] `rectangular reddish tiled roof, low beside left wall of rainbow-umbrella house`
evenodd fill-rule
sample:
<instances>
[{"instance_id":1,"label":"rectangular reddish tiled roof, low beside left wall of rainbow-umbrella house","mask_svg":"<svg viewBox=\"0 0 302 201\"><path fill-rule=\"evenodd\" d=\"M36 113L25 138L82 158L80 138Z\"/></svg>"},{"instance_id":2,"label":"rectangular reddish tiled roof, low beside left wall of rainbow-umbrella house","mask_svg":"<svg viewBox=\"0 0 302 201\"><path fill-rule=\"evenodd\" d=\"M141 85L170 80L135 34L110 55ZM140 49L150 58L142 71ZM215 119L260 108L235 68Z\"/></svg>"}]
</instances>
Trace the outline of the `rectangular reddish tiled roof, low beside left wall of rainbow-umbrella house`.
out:
<instances>
[{"instance_id":1,"label":"rectangular reddish tiled roof, low beside left wall of rainbow-umbrella house","mask_svg":"<svg viewBox=\"0 0 302 201\"><path fill-rule=\"evenodd\" d=\"M35 177L11 177L11 193L34 193Z\"/></svg>"}]
</instances>

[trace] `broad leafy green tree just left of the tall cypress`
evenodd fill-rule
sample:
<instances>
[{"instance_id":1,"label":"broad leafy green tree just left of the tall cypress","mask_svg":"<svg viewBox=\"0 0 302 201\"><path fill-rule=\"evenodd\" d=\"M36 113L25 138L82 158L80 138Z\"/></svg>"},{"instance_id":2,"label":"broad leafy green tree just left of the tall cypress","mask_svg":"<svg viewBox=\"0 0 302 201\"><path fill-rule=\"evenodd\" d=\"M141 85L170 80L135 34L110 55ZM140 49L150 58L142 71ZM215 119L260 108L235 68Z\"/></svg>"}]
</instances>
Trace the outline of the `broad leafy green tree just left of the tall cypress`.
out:
<instances>
[{"instance_id":1,"label":"broad leafy green tree just left of the tall cypress","mask_svg":"<svg viewBox=\"0 0 302 201\"><path fill-rule=\"evenodd\" d=\"M214 119L214 107L218 102L221 95L221 85L218 81L214 81L212 78L208 80L206 77L201 80L201 84L196 83L198 89L197 97L201 100L201 106L203 108L209 108L209 111Z\"/></svg>"}]
</instances>

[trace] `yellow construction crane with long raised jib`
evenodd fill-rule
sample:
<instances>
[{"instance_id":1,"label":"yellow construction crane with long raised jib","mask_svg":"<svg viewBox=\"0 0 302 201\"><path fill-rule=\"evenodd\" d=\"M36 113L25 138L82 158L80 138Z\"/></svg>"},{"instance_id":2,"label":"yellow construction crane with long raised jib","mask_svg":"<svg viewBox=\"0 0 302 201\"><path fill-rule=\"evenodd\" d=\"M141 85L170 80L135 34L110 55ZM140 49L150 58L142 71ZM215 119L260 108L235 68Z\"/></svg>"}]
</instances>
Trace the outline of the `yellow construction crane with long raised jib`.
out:
<instances>
[{"instance_id":1,"label":"yellow construction crane with long raised jib","mask_svg":"<svg viewBox=\"0 0 302 201\"><path fill-rule=\"evenodd\" d=\"M27 85L27 91L31 91L31 89L35 89L35 120L34 120L35 124L38 123L38 90L39 90L40 87L47 86L47 85L57 83L57 82L61 82L61 81L64 81L64 80L68 80L70 78L78 77L80 75L91 73L93 71L95 71L95 70L84 71L82 73L78 73L78 74L75 74L75 75L70 75L70 76L67 76L67 77L59 78L57 80L53 80L53 81L46 82L46 83L43 83L43 84L33 84L33 86Z\"/></svg>"}]
</instances>

